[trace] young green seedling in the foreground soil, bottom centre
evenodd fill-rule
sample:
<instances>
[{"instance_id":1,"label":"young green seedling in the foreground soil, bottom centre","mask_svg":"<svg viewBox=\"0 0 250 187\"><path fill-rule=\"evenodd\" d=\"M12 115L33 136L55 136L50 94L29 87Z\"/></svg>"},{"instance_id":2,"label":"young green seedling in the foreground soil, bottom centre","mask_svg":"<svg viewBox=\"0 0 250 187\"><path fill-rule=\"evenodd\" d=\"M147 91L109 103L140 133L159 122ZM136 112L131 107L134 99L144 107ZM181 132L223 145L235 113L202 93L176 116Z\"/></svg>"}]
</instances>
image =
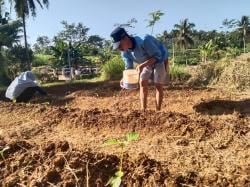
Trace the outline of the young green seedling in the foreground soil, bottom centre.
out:
<instances>
[{"instance_id":1,"label":"young green seedling in the foreground soil, bottom centre","mask_svg":"<svg viewBox=\"0 0 250 187\"><path fill-rule=\"evenodd\" d=\"M115 175L109 179L109 181L107 182L107 184L105 186L108 186L108 185L110 185L111 187L119 187L120 186L120 184L122 182L122 177L124 175L124 173L122 171L124 149L131 141L138 140L138 138L139 138L138 133L130 132L130 133L126 134L126 136L121 138L121 139L109 139L103 143L103 146L118 145L122 149L121 156L120 156L119 170L117 172L115 172Z\"/></svg>"}]
</instances>

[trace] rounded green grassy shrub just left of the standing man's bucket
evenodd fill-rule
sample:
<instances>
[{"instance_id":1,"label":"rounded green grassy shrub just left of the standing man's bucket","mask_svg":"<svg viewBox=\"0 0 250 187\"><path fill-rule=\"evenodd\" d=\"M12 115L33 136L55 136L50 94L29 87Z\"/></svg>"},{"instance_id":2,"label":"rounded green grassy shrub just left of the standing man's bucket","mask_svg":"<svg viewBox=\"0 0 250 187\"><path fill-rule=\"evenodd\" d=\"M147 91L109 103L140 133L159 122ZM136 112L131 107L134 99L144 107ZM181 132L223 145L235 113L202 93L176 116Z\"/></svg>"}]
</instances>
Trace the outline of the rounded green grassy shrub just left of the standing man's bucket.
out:
<instances>
[{"instance_id":1,"label":"rounded green grassy shrub just left of the standing man's bucket","mask_svg":"<svg viewBox=\"0 0 250 187\"><path fill-rule=\"evenodd\" d=\"M120 56L115 56L106 62L101 69L101 78L103 80L117 80L122 77L124 62Z\"/></svg>"}]
</instances>

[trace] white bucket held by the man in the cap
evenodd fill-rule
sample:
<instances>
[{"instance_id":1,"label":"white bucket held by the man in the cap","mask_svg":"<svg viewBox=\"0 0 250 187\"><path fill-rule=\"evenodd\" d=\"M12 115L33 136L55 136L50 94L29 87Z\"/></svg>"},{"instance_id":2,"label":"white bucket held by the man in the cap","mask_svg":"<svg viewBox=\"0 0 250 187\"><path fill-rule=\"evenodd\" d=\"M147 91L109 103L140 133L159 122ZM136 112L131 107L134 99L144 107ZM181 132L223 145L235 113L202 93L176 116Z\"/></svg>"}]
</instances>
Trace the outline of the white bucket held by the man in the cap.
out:
<instances>
[{"instance_id":1,"label":"white bucket held by the man in the cap","mask_svg":"<svg viewBox=\"0 0 250 187\"><path fill-rule=\"evenodd\" d=\"M135 69L126 69L123 71L123 85L125 89L137 89L139 74Z\"/></svg>"}]
</instances>

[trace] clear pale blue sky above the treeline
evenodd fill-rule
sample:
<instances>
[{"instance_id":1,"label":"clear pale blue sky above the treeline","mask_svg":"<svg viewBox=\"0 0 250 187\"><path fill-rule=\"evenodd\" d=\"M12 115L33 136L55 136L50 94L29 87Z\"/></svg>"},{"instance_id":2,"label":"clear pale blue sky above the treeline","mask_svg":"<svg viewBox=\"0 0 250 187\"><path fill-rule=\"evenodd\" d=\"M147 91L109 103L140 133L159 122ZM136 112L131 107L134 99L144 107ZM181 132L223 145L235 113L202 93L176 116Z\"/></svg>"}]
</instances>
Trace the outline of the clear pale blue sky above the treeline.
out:
<instances>
[{"instance_id":1,"label":"clear pale blue sky above the treeline","mask_svg":"<svg viewBox=\"0 0 250 187\"><path fill-rule=\"evenodd\" d=\"M35 0L34 0L35 1ZM34 44L38 36L52 39L63 30L61 21L82 23L90 28L88 35L110 39L116 23L126 23L132 18L138 22L129 33L151 33L147 27L149 13L164 13L156 23L154 35L171 31L180 20L188 18L197 30L220 30L222 21L250 16L250 0L49 0L49 8L37 6L37 16L27 20L28 41Z\"/></svg>"}]
</instances>

